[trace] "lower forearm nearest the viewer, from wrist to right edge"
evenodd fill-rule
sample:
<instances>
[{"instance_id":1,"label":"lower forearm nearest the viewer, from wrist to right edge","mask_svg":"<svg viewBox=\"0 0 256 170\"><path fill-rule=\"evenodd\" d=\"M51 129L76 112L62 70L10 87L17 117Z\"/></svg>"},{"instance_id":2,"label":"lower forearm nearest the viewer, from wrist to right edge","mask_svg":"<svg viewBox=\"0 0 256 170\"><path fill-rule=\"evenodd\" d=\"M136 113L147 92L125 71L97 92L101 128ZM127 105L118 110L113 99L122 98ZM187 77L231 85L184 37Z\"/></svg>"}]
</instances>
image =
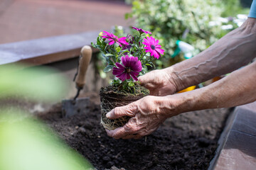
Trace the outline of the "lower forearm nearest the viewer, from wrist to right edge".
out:
<instances>
[{"instance_id":1,"label":"lower forearm nearest the viewer, from wrist to right edge","mask_svg":"<svg viewBox=\"0 0 256 170\"><path fill-rule=\"evenodd\" d=\"M209 86L166 96L165 113L178 114L207 108L228 108L256 101L255 77L256 62Z\"/></svg>"}]
</instances>

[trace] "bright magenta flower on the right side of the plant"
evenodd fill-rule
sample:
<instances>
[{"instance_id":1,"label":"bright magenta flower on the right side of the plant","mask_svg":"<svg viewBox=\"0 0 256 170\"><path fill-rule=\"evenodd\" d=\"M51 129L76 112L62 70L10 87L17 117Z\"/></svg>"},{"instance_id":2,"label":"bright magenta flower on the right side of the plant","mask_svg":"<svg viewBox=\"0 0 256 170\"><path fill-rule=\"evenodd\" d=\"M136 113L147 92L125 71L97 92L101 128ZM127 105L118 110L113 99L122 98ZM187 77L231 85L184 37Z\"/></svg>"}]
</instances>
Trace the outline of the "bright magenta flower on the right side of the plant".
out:
<instances>
[{"instance_id":1,"label":"bright magenta flower on the right side of the plant","mask_svg":"<svg viewBox=\"0 0 256 170\"><path fill-rule=\"evenodd\" d=\"M147 37L143 39L144 42L142 42L146 47L144 47L145 52L150 52L150 55L153 56L156 59L159 59L161 55L164 55L164 50L161 49L161 45L159 45L159 40L155 40L152 37ZM161 54L161 55L160 55Z\"/></svg>"}]
</instances>

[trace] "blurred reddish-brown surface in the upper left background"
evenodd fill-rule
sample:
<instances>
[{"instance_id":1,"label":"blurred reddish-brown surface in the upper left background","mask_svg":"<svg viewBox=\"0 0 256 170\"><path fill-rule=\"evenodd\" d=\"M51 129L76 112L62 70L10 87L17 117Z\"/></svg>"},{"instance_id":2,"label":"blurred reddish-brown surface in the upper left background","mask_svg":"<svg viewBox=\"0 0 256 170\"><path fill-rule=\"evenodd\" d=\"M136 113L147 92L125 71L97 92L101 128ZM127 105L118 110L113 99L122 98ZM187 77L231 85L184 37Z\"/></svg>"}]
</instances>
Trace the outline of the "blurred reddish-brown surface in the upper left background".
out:
<instances>
[{"instance_id":1,"label":"blurred reddish-brown surface in the upper left background","mask_svg":"<svg viewBox=\"0 0 256 170\"><path fill-rule=\"evenodd\" d=\"M0 0L0 44L133 25L116 0Z\"/></svg>"}]
</instances>

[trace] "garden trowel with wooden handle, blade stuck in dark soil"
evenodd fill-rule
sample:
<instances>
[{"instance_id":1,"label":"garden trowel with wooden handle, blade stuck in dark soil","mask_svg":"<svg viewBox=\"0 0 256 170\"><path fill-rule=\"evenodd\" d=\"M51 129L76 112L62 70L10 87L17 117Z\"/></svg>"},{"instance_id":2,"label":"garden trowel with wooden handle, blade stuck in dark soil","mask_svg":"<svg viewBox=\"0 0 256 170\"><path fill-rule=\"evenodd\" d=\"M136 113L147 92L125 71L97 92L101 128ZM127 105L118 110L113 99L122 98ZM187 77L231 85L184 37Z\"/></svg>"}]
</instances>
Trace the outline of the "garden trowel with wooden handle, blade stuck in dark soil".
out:
<instances>
[{"instance_id":1,"label":"garden trowel with wooden handle, blade stuck in dark soil","mask_svg":"<svg viewBox=\"0 0 256 170\"><path fill-rule=\"evenodd\" d=\"M90 106L90 98L78 98L80 91L85 85L85 74L87 67L89 66L92 57L92 48L88 45L82 47L80 57L78 60L78 70L75 74L73 81L75 81L75 87L77 94L73 99L65 99L62 101L62 113L65 117L70 117L80 113L81 111L88 110Z\"/></svg>"}]
</instances>

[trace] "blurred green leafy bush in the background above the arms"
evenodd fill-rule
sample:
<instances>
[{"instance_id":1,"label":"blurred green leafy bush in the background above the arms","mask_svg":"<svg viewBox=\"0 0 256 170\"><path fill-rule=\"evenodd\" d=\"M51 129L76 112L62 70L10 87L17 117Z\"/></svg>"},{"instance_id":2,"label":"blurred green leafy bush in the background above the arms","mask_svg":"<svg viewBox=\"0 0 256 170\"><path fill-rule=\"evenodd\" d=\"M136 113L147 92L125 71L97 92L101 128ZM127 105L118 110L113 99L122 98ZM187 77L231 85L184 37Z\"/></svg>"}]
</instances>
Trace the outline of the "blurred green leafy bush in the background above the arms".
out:
<instances>
[{"instance_id":1,"label":"blurred green leafy bush in the background above the arms","mask_svg":"<svg viewBox=\"0 0 256 170\"><path fill-rule=\"evenodd\" d=\"M135 18L137 27L156 35L166 51L156 63L158 68L163 68L184 60L182 54L171 58L176 40L193 45L196 49L193 55L196 55L230 31L212 22L240 11L238 0L134 0L132 12L125 18Z\"/></svg>"}]
</instances>

